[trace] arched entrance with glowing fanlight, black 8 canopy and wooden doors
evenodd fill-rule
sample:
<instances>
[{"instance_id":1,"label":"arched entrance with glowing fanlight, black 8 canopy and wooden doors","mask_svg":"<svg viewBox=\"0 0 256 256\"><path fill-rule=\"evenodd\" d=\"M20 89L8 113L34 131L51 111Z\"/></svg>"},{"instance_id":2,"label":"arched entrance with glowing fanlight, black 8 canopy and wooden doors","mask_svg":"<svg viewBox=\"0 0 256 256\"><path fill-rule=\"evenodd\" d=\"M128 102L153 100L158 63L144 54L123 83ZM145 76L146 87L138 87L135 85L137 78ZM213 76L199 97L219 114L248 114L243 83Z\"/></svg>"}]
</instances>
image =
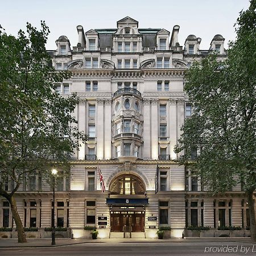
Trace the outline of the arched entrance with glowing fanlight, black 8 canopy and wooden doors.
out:
<instances>
[{"instance_id":1,"label":"arched entrance with glowing fanlight, black 8 canopy and wooden doors","mask_svg":"<svg viewBox=\"0 0 256 256\"><path fill-rule=\"evenodd\" d=\"M109 200L110 225L112 232L144 232L145 205L147 199L142 199L146 192L143 181L132 174L122 174L116 177L109 186L110 195L115 196Z\"/></svg>"}]
</instances>

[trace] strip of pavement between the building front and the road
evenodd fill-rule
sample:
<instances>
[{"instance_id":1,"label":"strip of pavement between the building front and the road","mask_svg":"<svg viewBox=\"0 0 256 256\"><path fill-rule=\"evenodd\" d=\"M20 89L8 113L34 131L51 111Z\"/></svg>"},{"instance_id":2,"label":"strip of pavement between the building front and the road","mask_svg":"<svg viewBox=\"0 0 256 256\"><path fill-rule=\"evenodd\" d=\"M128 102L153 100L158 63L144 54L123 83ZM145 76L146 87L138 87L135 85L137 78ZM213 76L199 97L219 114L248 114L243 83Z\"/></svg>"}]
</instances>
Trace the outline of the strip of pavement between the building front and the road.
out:
<instances>
[{"instance_id":1,"label":"strip of pavement between the building front and the road","mask_svg":"<svg viewBox=\"0 0 256 256\"><path fill-rule=\"evenodd\" d=\"M65 246L65 245L76 245L79 243L131 243L131 242L243 242L243 243L251 243L250 238L247 237L189 237L189 238L170 238L159 240L156 238L98 238L97 240L89 240L85 238L56 238L56 245L51 245L51 238L28 238L27 243L18 243L16 238L0 239L0 247L56 247L56 246Z\"/></svg>"}]
</instances>

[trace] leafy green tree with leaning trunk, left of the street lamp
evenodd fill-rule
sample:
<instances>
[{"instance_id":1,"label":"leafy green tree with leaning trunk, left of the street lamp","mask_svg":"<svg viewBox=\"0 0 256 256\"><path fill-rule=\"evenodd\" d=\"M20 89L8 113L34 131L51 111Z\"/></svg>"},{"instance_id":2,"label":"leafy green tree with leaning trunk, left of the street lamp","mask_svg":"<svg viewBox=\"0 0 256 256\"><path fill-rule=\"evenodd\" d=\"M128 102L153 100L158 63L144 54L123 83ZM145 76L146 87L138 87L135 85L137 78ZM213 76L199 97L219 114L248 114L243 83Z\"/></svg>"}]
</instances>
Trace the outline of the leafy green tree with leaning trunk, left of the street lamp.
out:
<instances>
[{"instance_id":1,"label":"leafy green tree with leaning trunk, left of the street lamp","mask_svg":"<svg viewBox=\"0 0 256 256\"><path fill-rule=\"evenodd\" d=\"M0 195L11 207L18 242L26 242L15 201L24 177L49 176L53 166L69 169L68 158L86 136L77 130L72 116L79 98L60 97L56 82L69 72L55 72L45 44L45 22L37 30L27 23L27 33L7 35L0 28ZM13 183L11 191L6 182Z\"/></svg>"}]
</instances>

